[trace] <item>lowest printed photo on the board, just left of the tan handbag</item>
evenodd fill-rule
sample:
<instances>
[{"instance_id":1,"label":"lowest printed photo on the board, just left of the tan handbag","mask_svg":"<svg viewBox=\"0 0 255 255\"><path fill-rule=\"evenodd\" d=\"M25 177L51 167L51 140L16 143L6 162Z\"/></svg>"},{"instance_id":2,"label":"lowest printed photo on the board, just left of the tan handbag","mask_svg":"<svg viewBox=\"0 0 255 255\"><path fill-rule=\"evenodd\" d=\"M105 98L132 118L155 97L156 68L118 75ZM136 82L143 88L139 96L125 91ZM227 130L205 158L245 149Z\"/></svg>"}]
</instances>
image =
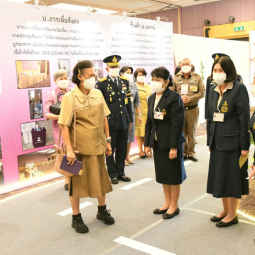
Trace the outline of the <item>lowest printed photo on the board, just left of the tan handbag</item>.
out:
<instances>
[{"instance_id":1,"label":"lowest printed photo on the board, just left of the tan handbag","mask_svg":"<svg viewBox=\"0 0 255 255\"><path fill-rule=\"evenodd\" d=\"M18 156L20 182L54 172L56 151L47 149Z\"/></svg>"}]
</instances>

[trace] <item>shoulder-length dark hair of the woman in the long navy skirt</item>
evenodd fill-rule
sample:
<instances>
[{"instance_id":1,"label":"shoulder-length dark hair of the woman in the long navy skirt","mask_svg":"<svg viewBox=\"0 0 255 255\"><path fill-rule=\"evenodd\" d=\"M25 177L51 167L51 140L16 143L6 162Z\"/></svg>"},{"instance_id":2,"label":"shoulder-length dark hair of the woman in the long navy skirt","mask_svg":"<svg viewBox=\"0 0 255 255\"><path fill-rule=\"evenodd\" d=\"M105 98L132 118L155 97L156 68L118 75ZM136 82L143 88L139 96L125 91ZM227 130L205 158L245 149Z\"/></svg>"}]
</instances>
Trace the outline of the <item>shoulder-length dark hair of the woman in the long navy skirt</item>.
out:
<instances>
[{"instance_id":1,"label":"shoulder-length dark hair of the woman in the long navy skirt","mask_svg":"<svg viewBox=\"0 0 255 255\"><path fill-rule=\"evenodd\" d=\"M225 82L231 82L235 81L237 78L237 73L236 73L236 67L234 65L234 62L231 60L229 57L221 57L217 58L212 66L212 74L211 77L213 78L213 69L216 64L220 64L223 71L227 74L227 79Z\"/></svg>"}]
</instances>

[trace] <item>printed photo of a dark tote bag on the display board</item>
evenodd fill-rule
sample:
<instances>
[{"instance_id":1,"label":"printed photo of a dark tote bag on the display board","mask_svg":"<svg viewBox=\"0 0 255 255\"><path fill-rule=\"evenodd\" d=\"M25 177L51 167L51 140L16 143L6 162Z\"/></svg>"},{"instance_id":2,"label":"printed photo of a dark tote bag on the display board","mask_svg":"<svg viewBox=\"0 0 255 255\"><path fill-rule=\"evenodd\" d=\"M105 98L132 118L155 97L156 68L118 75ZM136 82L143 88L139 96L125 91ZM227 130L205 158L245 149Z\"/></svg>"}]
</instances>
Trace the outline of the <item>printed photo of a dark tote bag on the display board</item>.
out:
<instances>
[{"instance_id":1,"label":"printed photo of a dark tote bag on the display board","mask_svg":"<svg viewBox=\"0 0 255 255\"><path fill-rule=\"evenodd\" d=\"M54 144L51 121L39 120L21 124L22 150Z\"/></svg>"}]
</instances>

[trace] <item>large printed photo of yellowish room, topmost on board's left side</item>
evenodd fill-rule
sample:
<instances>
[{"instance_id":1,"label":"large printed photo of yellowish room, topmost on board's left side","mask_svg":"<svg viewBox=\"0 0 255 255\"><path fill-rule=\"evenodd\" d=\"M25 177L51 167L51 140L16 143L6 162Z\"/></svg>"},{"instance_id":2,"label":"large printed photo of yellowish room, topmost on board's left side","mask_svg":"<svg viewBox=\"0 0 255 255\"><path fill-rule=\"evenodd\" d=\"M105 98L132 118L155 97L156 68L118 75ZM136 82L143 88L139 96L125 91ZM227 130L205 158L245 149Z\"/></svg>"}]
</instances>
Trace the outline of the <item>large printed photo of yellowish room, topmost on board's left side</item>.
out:
<instances>
[{"instance_id":1,"label":"large printed photo of yellowish room, topmost on board's left side","mask_svg":"<svg viewBox=\"0 0 255 255\"><path fill-rule=\"evenodd\" d=\"M16 60L18 89L50 87L48 60Z\"/></svg>"}]
</instances>

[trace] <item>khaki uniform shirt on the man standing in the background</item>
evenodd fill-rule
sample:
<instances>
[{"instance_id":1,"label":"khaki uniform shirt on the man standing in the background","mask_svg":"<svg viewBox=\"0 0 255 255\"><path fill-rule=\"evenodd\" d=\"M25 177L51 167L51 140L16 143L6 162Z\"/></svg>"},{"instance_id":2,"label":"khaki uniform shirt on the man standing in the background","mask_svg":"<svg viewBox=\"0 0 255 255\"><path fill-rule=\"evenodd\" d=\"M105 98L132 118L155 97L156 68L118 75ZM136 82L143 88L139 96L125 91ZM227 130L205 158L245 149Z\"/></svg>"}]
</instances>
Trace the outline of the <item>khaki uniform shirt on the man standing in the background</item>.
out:
<instances>
[{"instance_id":1,"label":"khaki uniform shirt on the man standing in the background","mask_svg":"<svg viewBox=\"0 0 255 255\"><path fill-rule=\"evenodd\" d=\"M188 85L188 93L186 96L190 97L190 102L184 104L184 106L193 106L196 105L205 94L205 85L197 73L191 72L190 75L186 78L183 75L183 72L180 71L178 74L176 74L173 78L173 87L171 87L171 90L175 90L178 92L181 96L184 96L181 94L182 85Z\"/></svg>"}]
</instances>

